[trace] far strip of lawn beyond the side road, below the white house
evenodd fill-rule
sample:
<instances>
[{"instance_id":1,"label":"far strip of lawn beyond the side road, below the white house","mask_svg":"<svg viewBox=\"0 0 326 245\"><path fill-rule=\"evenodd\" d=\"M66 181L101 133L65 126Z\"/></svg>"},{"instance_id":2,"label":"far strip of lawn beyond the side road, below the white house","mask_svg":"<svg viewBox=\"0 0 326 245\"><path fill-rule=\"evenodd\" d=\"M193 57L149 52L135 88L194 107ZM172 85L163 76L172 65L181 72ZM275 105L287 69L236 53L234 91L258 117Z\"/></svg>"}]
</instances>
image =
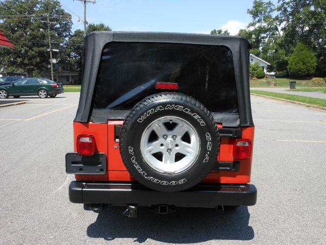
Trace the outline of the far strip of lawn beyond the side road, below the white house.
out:
<instances>
[{"instance_id":1,"label":"far strip of lawn beyond the side road, below the white house","mask_svg":"<svg viewBox=\"0 0 326 245\"><path fill-rule=\"evenodd\" d=\"M277 87L289 87L290 81L296 81L296 87L326 87L326 78L292 79L292 78L264 78L250 80L251 87L268 87L267 81L277 82Z\"/></svg>"}]
</instances>

